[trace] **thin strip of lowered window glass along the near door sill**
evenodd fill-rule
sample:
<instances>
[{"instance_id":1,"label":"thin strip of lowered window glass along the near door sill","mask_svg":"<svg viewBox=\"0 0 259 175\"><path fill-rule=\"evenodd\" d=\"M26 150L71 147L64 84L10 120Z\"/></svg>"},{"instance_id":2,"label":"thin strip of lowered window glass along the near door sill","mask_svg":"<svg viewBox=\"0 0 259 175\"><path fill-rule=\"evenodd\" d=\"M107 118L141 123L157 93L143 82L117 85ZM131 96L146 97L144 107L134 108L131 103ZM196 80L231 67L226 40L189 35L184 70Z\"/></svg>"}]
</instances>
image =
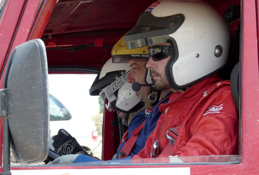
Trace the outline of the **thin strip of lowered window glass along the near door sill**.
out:
<instances>
[{"instance_id":1,"label":"thin strip of lowered window glass along the near door sill","mask_svg":"<svg viewBox=\"0 0 259 175\"><path fill-rule=\"evenodd\" d=\"M186 157L162 157L143 159L121 159L108 161L80 162L70 165L80 166L111 166L111 165L205 165L205 164L238 164L240 155L225 156L186 156ZM60 164L59 164L60 166Z\"/></svg>"}]
</instances>

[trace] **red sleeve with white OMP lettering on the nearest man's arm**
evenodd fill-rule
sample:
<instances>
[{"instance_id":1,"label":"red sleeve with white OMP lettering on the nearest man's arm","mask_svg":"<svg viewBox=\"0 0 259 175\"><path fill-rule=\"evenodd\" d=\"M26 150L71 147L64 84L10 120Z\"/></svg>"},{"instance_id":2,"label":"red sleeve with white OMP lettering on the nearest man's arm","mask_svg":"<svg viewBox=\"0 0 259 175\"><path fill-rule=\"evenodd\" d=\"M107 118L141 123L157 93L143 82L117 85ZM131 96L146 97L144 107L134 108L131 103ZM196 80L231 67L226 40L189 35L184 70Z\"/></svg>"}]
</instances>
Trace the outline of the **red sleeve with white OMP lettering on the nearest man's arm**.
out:
<instances>
[{"instance_id":1,"label":"red sleeve with white OMP lettering on the nearest man's arm","mask_svg":"<svg viewBox=\"0 0 259 175\"><path fill-rule=\"evenodd\" d=\"M193 118L185 125L189 127L186 137L190 138L176 152L178 156L238 154L238 115L230 87L216 91L205 100ZM195 118L200 119L195 121Z\"/></svg>"}]
</instances>

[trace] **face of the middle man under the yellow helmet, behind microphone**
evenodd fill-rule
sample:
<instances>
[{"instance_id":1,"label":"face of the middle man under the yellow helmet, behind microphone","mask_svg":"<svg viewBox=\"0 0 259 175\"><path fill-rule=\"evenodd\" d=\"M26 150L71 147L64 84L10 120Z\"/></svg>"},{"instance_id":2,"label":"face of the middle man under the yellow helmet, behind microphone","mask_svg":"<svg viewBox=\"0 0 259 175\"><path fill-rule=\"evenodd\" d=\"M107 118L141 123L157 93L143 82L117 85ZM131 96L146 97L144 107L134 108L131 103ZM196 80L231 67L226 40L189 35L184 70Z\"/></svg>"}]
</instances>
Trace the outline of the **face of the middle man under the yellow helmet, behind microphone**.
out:
<instances>
[{"instance_id":1,"label":"face of the middle man under the yellow helmet, behind microphone","mask_svg":"<svg viewBox=\"0 0 259 175\"><path fill-rule=\"evenodd\" d=\"M145 74L146 74L146 60L140 61L129 61L129 76L127 82L134 83L139 82L140 84L145 84ZM140 91L136 92L136 95L141 101L147 101L148 95L150 93L150 87L142 86Z\"/></svg>"}]
</instances>

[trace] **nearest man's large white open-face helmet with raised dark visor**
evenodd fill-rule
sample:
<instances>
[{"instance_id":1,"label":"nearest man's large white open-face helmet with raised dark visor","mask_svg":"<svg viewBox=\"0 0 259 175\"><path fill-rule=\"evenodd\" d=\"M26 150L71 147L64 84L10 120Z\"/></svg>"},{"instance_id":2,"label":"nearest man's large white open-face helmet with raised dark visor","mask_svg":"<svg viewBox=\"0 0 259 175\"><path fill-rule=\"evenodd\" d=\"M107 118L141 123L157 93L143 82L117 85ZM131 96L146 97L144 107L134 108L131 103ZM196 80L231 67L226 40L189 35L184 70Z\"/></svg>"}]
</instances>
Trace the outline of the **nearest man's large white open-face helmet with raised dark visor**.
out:
<instances>
[{"instance_id":1,"label":"nearest man's large white open-face helmet with raised dark visor","mask_svg":"<svg viewBox=\"0 0 259 175\"><path fill-rule=\"evenodd\" d=\"M200 0L154 2L140 15L136 26L124 39L128 49L171 43L165 71L175 90L208 77L227 62L227 26L213 7ZM156 53L151 52L151 56ZM161 57L159 54L155 56L157 60Z\"/></svg>"}]
</instances>

